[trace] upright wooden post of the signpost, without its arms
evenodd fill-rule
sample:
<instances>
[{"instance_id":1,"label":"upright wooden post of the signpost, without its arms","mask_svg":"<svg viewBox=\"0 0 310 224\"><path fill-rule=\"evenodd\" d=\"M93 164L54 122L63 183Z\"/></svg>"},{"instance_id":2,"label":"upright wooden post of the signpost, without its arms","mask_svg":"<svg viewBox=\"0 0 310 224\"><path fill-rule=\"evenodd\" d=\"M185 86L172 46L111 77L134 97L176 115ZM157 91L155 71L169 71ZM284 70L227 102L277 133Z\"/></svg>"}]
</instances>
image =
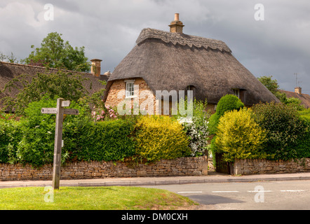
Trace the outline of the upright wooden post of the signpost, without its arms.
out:
<instances>
[{"instance_id":1,"label":"upright wooden post of the signpost, without its arms","mask_svg":"<svg viewBox=\"0 0 310 224\"><path fill-rule=\"evenodd\" d=\"M53 189L59 189L60 186L60 166L61 166L61 148L62 148L62 120L64 118L64 108L62 101L57 99L56 128L55 128L55 146L54 146L54 164L53 164Z\"/></svg>"}]
</instances>

